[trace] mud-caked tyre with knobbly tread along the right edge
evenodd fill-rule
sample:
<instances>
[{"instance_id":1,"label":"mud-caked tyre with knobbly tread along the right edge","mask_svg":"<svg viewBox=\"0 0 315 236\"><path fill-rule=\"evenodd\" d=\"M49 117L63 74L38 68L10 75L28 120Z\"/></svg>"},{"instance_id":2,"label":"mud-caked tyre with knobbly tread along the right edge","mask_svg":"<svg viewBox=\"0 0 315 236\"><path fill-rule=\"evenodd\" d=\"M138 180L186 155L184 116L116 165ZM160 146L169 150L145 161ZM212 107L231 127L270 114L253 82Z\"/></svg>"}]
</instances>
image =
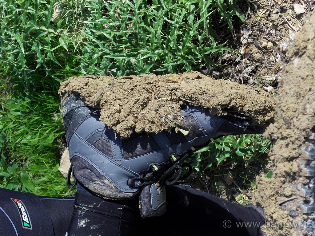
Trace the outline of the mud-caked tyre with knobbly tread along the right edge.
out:
<instances>
[{"instance_id":1,"label":"mud-caked tyre with knobbly tread along the right edge","mask_svg":"<svg viewBox=\"0 0 315 236\"><path fill-rule=\"evenodd\" d=\"M291 58L280 81L274 124L266 130L273 140L274 163L272 178L257 178L254 204L266 210L267 235L313 235L311 214L305 204L311 203L303 186L309 184L313 173L303 166L309 165L305 148L314 142L315 126L315 14L310 13L289 51ZM307 177L310 176L310 177ZM312 186L311 186L312 185ZM303 213L304 211L304 213Z\"/></svg>"}]
</instances>

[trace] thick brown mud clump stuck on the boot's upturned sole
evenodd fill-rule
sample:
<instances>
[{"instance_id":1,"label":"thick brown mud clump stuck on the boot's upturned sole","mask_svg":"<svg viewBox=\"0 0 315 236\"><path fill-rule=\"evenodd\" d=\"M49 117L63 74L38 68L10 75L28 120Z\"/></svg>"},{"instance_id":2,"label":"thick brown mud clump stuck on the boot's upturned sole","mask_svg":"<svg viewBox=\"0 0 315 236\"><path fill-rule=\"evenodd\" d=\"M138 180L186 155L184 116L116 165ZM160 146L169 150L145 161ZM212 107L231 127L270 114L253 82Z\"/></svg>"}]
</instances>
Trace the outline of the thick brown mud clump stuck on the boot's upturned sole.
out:
<instances>
[{"instance_id":1,"label":"thick brown mud clump stuck on the boot's upturned sole","mask_svg":"<svg viewBox=\"0 0 315 236\"><path fill-rule=\"evenodd\" d=\"M234 115L266 127L275 109L273 95L236 82L214 80L199 72L165 76L72 77L60 95L78 93L100 110L100 120L123 138L133 132L161 132L182 124L180 107L201 106L211 114ZM188 127L189 128L189 127Z\"/></svg>"}]
</instances>

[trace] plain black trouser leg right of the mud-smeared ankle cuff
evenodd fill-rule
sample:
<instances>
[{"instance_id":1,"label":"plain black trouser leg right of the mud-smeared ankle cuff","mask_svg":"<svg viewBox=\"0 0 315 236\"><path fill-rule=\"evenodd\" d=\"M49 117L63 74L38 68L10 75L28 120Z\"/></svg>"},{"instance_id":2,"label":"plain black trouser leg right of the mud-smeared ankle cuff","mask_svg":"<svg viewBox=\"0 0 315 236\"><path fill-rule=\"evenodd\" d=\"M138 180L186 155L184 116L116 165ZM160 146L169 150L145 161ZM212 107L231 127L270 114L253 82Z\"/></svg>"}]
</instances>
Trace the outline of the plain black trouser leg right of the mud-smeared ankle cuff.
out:
<instances>
[{"instance_id":1,"label":"plain black trouser leg right of the mud-smeared ankle cuff","mask_svg":"<svg viewBox=\"0 0 315 236\"><path fill-rule=\"evenodd\" d=\"M265 224L255 211L189 186L166 187L166 199L166 214L141 218L136 235L257 236Z\"/></svg>"}]
</instances>

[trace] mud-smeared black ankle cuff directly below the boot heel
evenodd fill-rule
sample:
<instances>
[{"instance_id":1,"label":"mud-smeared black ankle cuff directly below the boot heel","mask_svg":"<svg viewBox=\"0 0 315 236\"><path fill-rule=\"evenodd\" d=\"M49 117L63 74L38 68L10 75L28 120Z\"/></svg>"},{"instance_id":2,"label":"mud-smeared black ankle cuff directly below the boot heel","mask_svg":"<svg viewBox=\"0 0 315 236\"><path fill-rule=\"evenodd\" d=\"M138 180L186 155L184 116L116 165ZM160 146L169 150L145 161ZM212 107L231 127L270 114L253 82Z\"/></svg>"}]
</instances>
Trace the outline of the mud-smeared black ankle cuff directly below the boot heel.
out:
<instances>
[{"instance_id":1,"label":"mud-smeared black ankle cuff directly below the boot heel","mask_svg":"<svg viewBox=\"0 0 315 236\"><path fill-rule=\"evenodd\" d=\"M77 186L68 235L133 236L139 216L136 199L110 201Z\"/></svg>"}]
</instances>

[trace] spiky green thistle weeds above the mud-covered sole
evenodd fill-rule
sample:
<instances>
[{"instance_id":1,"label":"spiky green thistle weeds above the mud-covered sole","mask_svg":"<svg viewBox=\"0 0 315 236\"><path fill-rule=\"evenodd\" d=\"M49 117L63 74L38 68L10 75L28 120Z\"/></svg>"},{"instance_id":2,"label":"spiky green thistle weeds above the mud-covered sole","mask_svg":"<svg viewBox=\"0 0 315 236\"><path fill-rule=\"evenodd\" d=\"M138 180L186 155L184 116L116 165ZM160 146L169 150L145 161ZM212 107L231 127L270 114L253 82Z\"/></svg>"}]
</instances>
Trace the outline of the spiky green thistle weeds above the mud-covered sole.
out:
<instances>
[{"instance_id":1,"label":"spiky green thistle weeds above the mud-covered sole","mask_svg":"<svg viewBox=\"0 0 315 236\"><path fill-rule=\"evenodd\" d=\"M236 15L244 18L232 0L0 0L0 58L25 89L39 82L31 75L63 80L58 70L112 76L200 71L230 51L215 37L232 31Z\"/></svg>"}]
</instances>

